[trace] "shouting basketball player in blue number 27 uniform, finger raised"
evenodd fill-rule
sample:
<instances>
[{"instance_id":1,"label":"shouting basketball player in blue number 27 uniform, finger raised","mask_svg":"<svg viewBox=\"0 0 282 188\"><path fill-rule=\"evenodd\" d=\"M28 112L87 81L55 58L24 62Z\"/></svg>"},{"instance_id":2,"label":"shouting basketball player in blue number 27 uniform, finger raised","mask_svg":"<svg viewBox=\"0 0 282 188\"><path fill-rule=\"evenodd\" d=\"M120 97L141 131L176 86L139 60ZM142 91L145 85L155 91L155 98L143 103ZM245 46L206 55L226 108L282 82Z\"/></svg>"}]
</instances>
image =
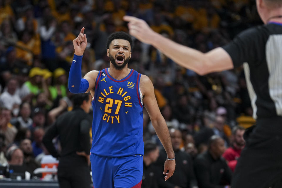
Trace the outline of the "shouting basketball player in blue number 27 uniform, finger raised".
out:
<instances>
[{"instance_id":1,"label":"shouting basketball player in blue number 27 uniform, finger raised","mask_svg":"<svg viewBox=\"0 0 282 188\"><path fill-rule=\"evenodd\" d=\"M167 180L175 169L169 131L158 108L151 80L127 68L131 57L131 36L125 32L111 34L107 41L110 67L92 70L81 79L81 60L87 45L83 32L84 28L73 40L75 53L68 85L72 93L90 91L93 97L90 161L94 188L141 187L143 106L167 152L163 172Z\"/></svg>"}]
</instances>

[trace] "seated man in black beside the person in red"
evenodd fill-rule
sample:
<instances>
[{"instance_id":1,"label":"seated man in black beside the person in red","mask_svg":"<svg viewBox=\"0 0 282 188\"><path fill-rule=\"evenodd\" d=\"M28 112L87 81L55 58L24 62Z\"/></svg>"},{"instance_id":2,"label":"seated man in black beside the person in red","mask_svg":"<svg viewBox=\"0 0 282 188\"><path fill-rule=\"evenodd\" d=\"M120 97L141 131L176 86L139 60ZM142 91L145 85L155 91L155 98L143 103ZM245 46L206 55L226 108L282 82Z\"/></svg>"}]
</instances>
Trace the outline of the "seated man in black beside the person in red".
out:
<instances>
[{"instance_id":1,"label":"seated man in black beside the person in red","mask_svg":"<svg viewBox=\"0 0 282 188\"><path fill-rule=\"evenodd\" d=\"M208 151L196 157L194 170L199 188L223 188L225 185L230 185L231 170L225 159L221 157L225 150L224 140L218 135L214 135L209 140Z\"/></svg>"}]
</instances>

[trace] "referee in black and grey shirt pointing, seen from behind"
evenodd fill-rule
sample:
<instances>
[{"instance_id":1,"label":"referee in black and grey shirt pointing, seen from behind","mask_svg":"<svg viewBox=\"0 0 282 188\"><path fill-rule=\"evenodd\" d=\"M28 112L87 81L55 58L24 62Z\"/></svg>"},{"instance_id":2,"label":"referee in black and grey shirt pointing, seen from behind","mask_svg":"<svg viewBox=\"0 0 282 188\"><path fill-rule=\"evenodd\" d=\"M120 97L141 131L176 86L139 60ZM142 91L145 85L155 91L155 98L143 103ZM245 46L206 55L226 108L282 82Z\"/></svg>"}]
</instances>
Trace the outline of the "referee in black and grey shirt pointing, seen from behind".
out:
<instances>
[{"instance_id":1,"label":"referee in black and grey shirt pointing, seen from behind","mask_svg":"<svg viewBox=\"0 0 282 188\"><path fill-rule=\"evenodd\" d=\"M199 75L244 66L257 126L246 140L232 188L282 187L282 0L256 0L256 6L264 25L208 53L162 37L141 19L123 18L132 36Z\"/></svg>"}]
</instances>

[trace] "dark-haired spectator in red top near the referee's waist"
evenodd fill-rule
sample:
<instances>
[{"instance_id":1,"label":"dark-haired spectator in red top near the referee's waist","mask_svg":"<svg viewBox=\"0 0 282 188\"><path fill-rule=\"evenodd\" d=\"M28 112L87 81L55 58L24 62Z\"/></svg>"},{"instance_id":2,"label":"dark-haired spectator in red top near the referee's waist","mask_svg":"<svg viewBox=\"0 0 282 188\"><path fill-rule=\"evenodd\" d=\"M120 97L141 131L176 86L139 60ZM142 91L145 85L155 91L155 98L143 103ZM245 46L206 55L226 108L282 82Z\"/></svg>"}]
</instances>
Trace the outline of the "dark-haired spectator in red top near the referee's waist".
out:
<instances>
[{"instance_id":1,"label":"dark-haired spectator in red top near the referee's waist","mask_svg":"<svg viewBox=\"0 0 282 188\"><path fill-rule=\"evenodd\" d=\"M240 157L242 149L245 147L244 135L245 128L236 126L232 129L231 147L227 148L222 157L228 161L228 166L234 172L237 160Z\"/></svg>"}]
</instances>

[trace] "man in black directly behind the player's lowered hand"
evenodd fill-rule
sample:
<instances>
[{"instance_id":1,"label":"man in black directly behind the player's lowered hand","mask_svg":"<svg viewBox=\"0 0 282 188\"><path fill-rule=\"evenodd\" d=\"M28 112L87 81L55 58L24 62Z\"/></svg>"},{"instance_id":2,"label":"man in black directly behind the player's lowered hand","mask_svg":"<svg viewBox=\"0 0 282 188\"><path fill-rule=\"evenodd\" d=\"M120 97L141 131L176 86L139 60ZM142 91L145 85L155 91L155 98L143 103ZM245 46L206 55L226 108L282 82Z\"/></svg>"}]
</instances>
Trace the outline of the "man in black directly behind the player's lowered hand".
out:
<instances>
[{"instance_id":1,"label":"man in black directly behind the player's lowered hand","mask_svg":"<svg viewBox=\"0 0 282 188\"><path fill-rule=\"evenodd\" d=\"M193 171L192 158L189 154L181 151L179 149L182 142L182 135L180 130L170 129L169 130L172 147L174 151L175 162L174 174L167 181L164 181L163 177L159 178L160 188L196 188L197 181ZM164 150L160 151L160 157L157 160L157 165L159 166L159 171L163 169L163 161L166 160L166 152Z\"/></svg>"}]
</instances>

